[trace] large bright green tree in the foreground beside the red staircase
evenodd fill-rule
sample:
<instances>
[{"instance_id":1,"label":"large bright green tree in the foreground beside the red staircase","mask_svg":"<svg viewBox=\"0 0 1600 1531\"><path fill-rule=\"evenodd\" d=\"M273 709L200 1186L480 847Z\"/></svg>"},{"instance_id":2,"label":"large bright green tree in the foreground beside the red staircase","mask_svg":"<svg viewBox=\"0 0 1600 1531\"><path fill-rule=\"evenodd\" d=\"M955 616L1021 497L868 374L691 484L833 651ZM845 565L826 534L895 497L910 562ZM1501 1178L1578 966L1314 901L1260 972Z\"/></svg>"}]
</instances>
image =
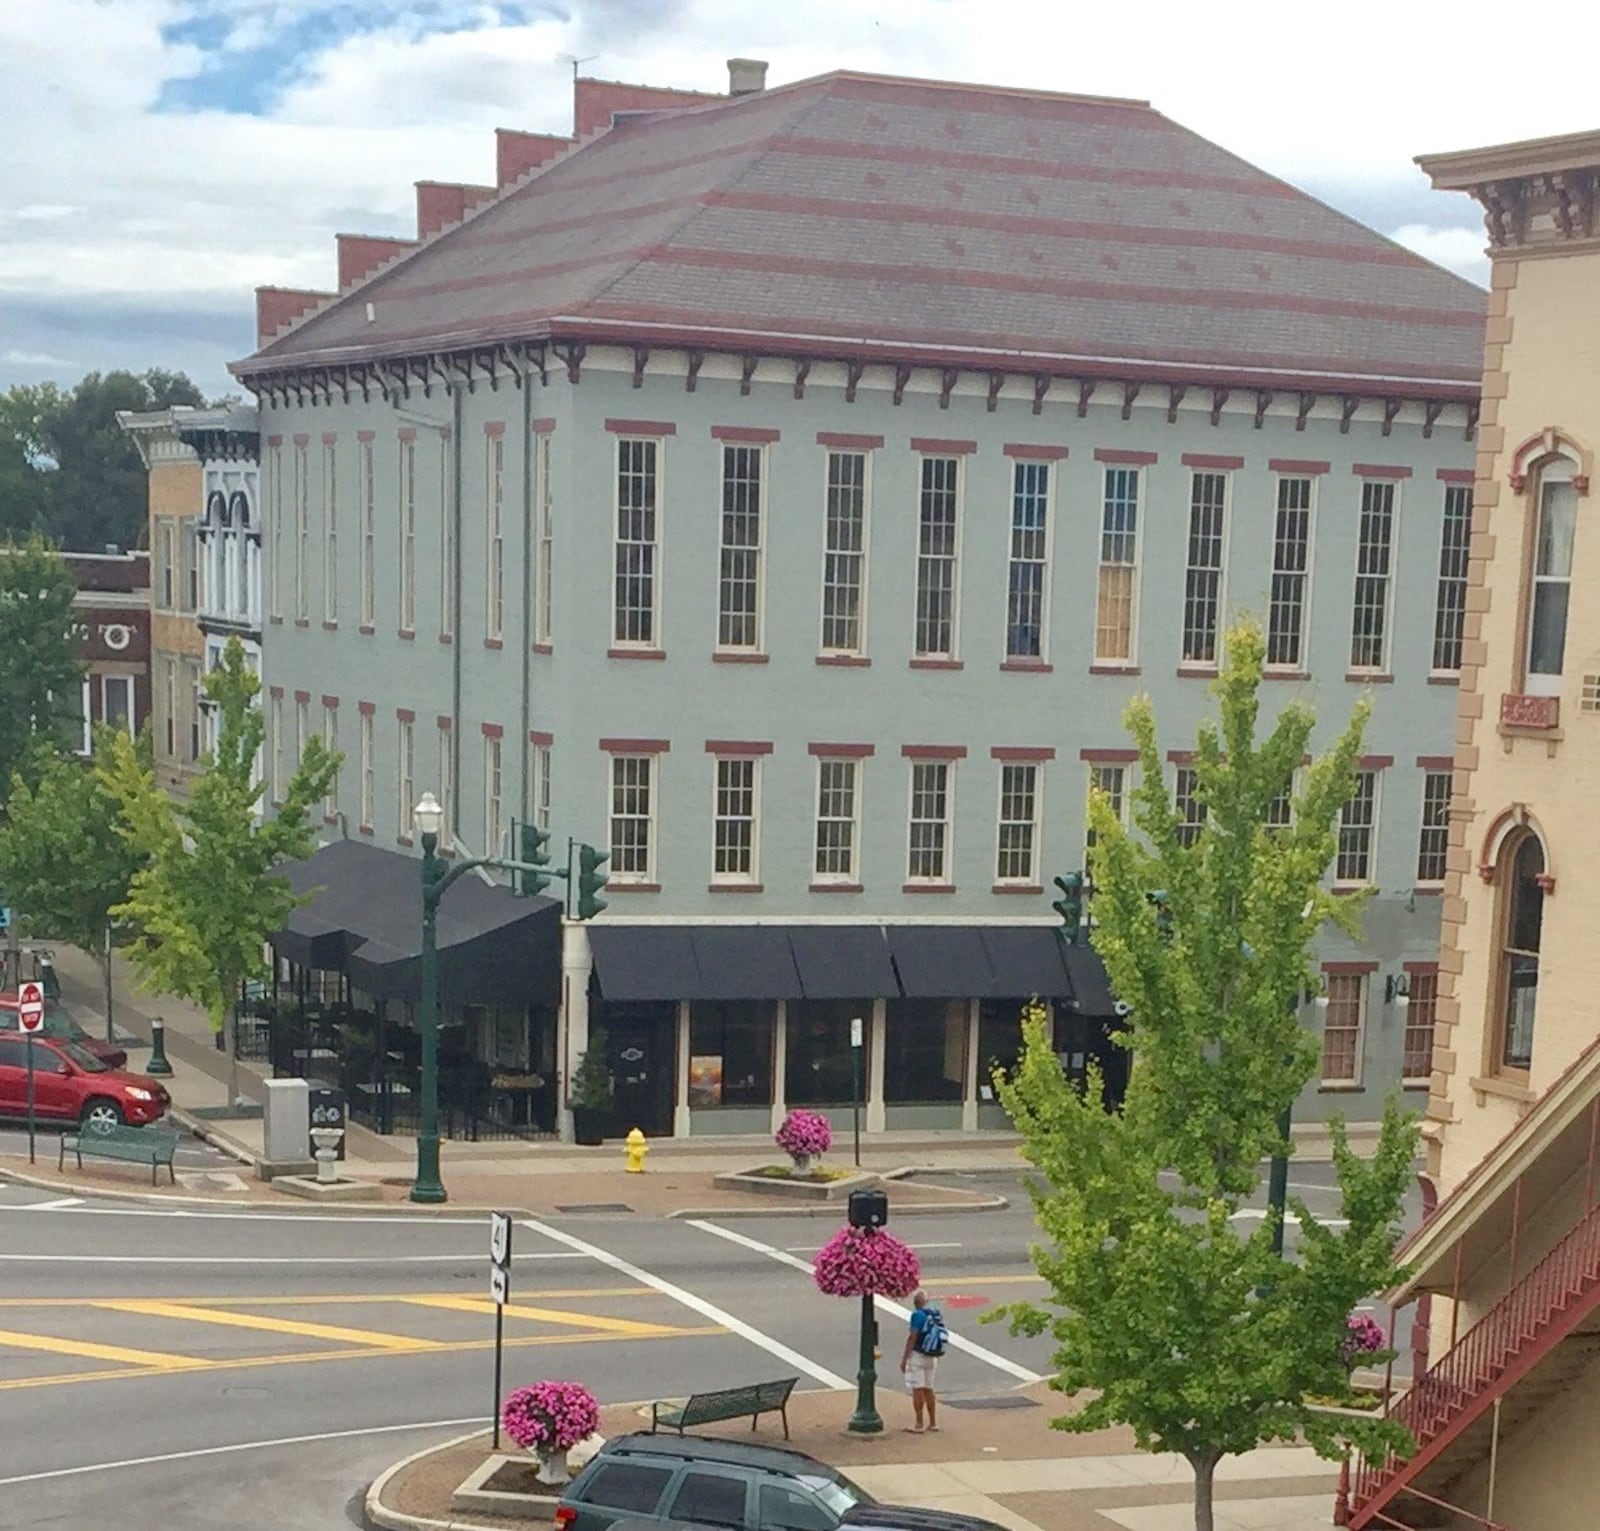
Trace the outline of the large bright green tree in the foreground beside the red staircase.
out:
<instances>
[{"instance_id":1,"label":"large bright green tree in the foreground beside the red staircase","mask_svg":"<svg viewBox=\"0 0 1600 1531\"><path fill-rule=\"evenodd\" d=\"M1290 1152L1278 1121L1318 1065L1298 1019L1310 941L1330 920L1354 928L1360 909L1323 873L1368 709L1306 768L1293 822L1274 827L1315 718L1291 704L1258 741L1262 656L1258 626L1227 635L1219 720L1202 726L1195 755L1197 837L1181 830L1149 699L1126 714L1141 771L1136 832L1104 795L1090 805L1093 942L1131 1006L1118 1038L1133 1049L1122 1110L1104 1109L1098 1073L1086 1091L1064 1077L1038 1006L1024 1016L1016 1070L997 1073L1043 1174L1032 1187L1045 1235L1034 1262L1051 1294L995 1317L1054 1339L1051 1385L1086 1398L1058 1429L1125 1424L1142 1448L1189 1459L1197 1531L1211 1531L1224 1456L1296 1437L1330 1457L1349 1443L1411 1449L1397 1424L1318 1413L1307 1398L1344 1393L1347 1318L1398 1275L1414 1123L1390 1101L1370 1161L1334 1126L1346 1227L1320 1225L1291 1200L1294 1259L1274 1251L1275 1217L1243 1227L1234 1217L1262 1158ZM1163 901L1149 897L1157 889Z\"/></svg>"}]
</instances>

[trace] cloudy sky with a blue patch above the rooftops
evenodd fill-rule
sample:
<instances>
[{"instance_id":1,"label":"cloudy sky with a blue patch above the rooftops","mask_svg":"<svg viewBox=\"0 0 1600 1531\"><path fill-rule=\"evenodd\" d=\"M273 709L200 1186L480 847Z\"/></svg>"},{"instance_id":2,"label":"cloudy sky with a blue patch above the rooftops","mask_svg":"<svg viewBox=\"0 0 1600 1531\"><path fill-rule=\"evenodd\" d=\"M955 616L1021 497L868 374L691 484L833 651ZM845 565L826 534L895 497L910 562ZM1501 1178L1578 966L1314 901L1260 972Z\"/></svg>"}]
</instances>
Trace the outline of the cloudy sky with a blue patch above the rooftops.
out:
<instances>
[{"instance_id":1,"label":"cloudy sky with a blue patch above the rooftops","mask_svg":"<svg viewBox=\"0 0 1600 1531\"><path fill-rule=\"evenodd\" d=\"M0 387L230 387L258 285L331 286L334 230L410 235L414 181L493 181L496 126L571 131L563 54L1138 96L1485 280L1472 203L1411 157L1600 126L1571 72L1600 8L1531 10L1549 88L1507 88L1486 0L0 0Z\"/></svg>"}]
</instances>

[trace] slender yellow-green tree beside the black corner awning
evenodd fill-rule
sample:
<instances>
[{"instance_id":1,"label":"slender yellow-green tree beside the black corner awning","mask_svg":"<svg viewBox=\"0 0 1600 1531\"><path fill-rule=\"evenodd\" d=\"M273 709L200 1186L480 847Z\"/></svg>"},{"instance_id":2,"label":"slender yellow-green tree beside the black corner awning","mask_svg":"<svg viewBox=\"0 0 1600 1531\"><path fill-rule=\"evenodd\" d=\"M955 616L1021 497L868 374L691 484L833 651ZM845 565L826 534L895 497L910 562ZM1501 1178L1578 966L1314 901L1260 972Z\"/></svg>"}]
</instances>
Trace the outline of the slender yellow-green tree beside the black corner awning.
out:
<instances>
[{"instance_id":1,"label":"slender yellow-green tree beside the black corner awning","mask_svg":"<svg viewBox=\"0 0 1600 1531\"><path fill-rule=\"evenodd\" d=\"M133 931L128 957L141 987L202 1006L221 1032L240 984L267 976L267 937L306 902L277 867L315 848L309 811L326 797L342 757L307 739L283 806L275 817L259 817L261 682L237 638L205 686L218 709L216 750L186 800L157 785L126 734L112 741L102 774L120 806L122 833L142 859L126 901L112 910ZM229 1094L237 1101L237 1059Z\"/></svg>"}]
</instances>

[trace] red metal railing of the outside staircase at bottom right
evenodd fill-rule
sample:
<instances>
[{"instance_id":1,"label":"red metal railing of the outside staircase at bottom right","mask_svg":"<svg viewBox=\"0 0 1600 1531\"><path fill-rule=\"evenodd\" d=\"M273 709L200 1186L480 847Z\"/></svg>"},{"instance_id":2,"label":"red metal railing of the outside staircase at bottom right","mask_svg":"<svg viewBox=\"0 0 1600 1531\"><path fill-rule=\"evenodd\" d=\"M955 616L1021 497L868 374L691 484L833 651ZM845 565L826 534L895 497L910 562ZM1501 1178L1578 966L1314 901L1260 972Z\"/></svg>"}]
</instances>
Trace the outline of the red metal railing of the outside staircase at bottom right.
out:
<instances>
[{"instance_id":1,"label":"red metal railing of the outside staircase at bottom right","mask_svg":"<svg viewBox=\"0 0 1600 1531\"><path fill-rule=\"evenodd\" d=\"M1389 1409L1418 1443L1410 1462L1363 1461L1350 1496L1350 1526L1392 1525L1382 1507L1528 1374L1600 1305L1600 1208L1440 1357Z\"/></svg>"}]
</instances>

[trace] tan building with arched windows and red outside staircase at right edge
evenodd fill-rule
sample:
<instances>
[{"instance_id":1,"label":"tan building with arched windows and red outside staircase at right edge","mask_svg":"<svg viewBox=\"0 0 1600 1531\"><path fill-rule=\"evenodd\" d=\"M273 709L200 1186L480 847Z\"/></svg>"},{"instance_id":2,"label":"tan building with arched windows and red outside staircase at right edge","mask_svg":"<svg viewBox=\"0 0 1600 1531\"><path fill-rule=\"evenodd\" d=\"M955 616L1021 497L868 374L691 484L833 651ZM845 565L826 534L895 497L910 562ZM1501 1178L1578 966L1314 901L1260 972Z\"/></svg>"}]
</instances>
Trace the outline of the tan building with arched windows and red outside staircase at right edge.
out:
<instances>
[{"instance_id":1,"label":"tan building with arched windows and red outside staircase at right edge","mask_svg":"<svg viewBox=\"0 0 1600 1531\"><path fill-rule=\"evenodd\" d=\"M1600 131L1419 162L1493 259L1408 1464L1352 1526L1600 1525Z\"/></svg>"}]
</instances>

